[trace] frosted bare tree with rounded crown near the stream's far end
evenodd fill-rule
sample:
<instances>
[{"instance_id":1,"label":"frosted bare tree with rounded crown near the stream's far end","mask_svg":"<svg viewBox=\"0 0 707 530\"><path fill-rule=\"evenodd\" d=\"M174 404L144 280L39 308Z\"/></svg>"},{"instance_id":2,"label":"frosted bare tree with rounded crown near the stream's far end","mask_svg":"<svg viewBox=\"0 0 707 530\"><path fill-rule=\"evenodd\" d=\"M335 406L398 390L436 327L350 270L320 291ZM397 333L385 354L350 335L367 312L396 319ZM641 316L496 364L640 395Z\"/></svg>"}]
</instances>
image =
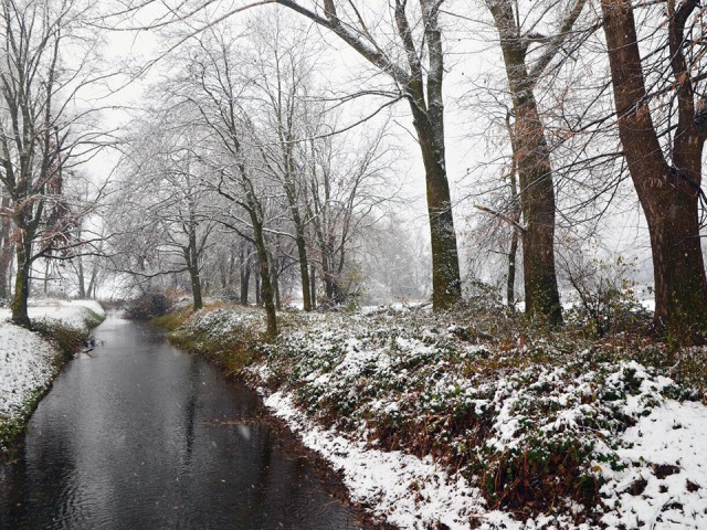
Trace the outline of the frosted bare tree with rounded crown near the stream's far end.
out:
<instances>
[{"instance_id":1,"label":"frosted bare tree with rounded crown near the stream's far end","mask_svg":"<svg viewBox=\"0 0 707 530\"><path fill-rule=\"evenodd\" d=\"M137 277L161 274L189 275L193 308L203 307L201 267L211 233L213 195L203 181L209 168L200 146L199 127L177 118L170 109L151 110L151 119L140 124L124 158L125 177L119 193L120 216L127 237L116 239L124 255L141 256L124 261L120 269ZM188 118L188 117L187 117ZM138 234L148 246L138 245ZM137 252L136 252L137 251ZM147 269L144 256L154 255L157 267Z\"/></svg>"}]
</instances>

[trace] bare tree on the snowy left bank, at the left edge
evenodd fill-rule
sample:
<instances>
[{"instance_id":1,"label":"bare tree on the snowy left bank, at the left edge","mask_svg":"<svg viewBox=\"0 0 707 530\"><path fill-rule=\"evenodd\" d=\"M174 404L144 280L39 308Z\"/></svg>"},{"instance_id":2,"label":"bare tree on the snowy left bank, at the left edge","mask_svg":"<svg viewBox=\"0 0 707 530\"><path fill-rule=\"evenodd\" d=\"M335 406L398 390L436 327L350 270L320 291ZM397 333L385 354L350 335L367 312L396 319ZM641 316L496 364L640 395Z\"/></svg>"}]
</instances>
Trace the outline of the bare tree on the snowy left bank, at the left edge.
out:
<instances>
[{"instance_id":1,"label":"bare tree on the snowy left bank, at the left edge","mask_svg":"<svg viewBox=\"0 0 707 530\"><path fill-rule=\"evenodd\" d=\"M85 115L72 114L74 98L92 78L93 42L76 34L84 11L72 0L0 2L0 182L15 246L12 320L25 327L32 264L80 244L56 237L70 230L52 210L61 204L56 190L71 160L81 157L80 146L83 153L92 149L85 147L89 138L77 132ZM63 56L70 43L76 44L77 61Z\"/></svg>"}]
</instances>

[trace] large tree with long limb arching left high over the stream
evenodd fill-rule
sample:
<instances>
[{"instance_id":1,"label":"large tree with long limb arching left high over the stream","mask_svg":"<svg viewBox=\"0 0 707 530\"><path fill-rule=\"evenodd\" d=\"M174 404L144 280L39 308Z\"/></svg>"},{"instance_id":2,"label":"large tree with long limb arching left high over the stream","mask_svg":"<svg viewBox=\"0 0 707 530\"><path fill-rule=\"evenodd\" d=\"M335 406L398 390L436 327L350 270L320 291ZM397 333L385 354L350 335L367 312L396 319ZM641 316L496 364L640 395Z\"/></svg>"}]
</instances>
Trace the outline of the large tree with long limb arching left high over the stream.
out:
<instances>
[{"instance_id":1,"label":"large tree with long limb arching left high over the stream","mask_svg":"<svg viewBox=\"0 0 707 530\"><path fill-rule=\"evenodd\" d=\"M128 2L114 19L130 19L151 3ZM443 0L420 0L419 4L395 0L390 4L389 17L372 10L365 12L354 2L325 0L323 8L308 9L294 0L273 0L233 8L219 17L218 21L265 3L284 6L331 31L393 83L392 87L384 86L368 93L389 98L386 105L400 99L408 102L425 172L433 306L435 309L453 306L461 298L461 277L445 157L442 91L444 44L439 23ZM193 21L196 13L203 13L204 8L203 2L197 6L189 2L170 6L165 18L151 28ZM390 26L386 24L388 20L391 21ZM212 28L214 23L207 21L196 31L191 25L189 38L204 31L203 28Z\"/></svg>"}]
</instances>

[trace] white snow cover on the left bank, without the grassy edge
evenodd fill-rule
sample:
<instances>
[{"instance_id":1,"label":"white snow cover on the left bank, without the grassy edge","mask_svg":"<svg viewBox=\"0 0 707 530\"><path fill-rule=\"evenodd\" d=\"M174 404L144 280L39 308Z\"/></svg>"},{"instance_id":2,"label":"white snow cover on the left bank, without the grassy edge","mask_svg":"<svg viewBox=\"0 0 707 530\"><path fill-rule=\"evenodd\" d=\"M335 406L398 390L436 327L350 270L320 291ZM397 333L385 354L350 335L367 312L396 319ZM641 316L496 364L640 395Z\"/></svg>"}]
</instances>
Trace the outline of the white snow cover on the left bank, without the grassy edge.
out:
<instances>
[{"instance_id":1,"label":"white snow cover on the left bank, without the grassy edge","mask_svg":"<svg viewBox=\"0 0 707 530\"><path fill-rule=\"evenodd\" d=\"M104 315L91 300L40 300L29 308L32 319L54 319L87 331L86 309ZM0 451L2 426L14 425L28 415L32 402L51 384L60 370L61 353L38 333L8 321L9 309L0 309ZM91 318L89 318L91 319Z\"/></svg>"}]
</instances>

